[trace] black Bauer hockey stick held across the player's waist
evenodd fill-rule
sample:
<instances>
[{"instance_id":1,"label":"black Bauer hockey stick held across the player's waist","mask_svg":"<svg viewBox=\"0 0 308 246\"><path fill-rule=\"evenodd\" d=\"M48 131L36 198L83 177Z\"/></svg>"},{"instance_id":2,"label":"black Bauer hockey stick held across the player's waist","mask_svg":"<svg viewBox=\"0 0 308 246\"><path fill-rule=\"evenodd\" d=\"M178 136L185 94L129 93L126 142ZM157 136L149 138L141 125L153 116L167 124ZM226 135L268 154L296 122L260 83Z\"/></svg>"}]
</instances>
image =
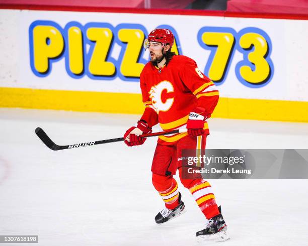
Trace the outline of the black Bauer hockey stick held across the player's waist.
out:
<instances>
[{"instance_id":1,"label":"black Bauer hockey stick held across the player's waist","mask_svg":"<svg viewBox=\"0 0 308 246\"><path fill-rule=\"evenodd\" d=\"M148 138L148 137L155 137L155 136L161 136L161 135L185 133L186 131L187 131L186 129L180 129L180 130L174 130L171 132L158 132L158 133L143 134L140 137ZM74 149L74 148L79 148L79 147L86 147L86 146L92 146L92 145L100 145L100 144L124 141L124 138L117 138L117 139L106 139L106 140L99 140L99 141L94 141L94 142L86 142L86 143L72 144L72 145L57 145L47 136L47 134L44 132L43 129L37 128L35 129L35 133L50 150Z\"/></svg>"}]
</instances>

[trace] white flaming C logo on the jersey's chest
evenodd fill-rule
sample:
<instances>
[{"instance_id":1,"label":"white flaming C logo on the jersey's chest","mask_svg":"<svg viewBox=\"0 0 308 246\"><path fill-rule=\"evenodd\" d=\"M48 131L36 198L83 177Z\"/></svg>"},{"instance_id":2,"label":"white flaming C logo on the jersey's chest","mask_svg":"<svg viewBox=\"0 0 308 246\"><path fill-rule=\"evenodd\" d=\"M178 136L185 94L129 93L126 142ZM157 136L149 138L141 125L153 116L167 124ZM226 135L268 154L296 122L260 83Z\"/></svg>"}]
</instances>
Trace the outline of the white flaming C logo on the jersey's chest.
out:
<instances>
[{"instance_id":1,"label":"white flaming C logo on the jersey's chest","mask_svg":"<svg viewBox=\"0 0 308 246\"><path fill-rule=\"evenodd\" d=\"M168 92L173 92L172 84L165 80L160 82L158 85L154 85L151 87L149 93L149 98L152 101L152 105L157 113L159 111L168 111L169 108L172 106L174 98L168 98L165 102L162 101L162 92L163 90L167 90Z\"/></svg>"}]
</instances>

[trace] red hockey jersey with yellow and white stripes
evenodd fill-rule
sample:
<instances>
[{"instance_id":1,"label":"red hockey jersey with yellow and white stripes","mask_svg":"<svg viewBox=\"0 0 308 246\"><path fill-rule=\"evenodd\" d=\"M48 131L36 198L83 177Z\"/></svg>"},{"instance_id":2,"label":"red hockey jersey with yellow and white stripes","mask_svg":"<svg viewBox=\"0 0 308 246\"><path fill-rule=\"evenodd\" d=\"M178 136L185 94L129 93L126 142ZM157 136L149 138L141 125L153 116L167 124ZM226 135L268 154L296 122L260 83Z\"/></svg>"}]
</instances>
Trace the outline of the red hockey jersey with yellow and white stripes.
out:
<instances>
[{"instance_id":1,"label":"red hockey jersey with yellow and white stripes","mask_svg":"<svg viewBox=\"0 0 308 246\"><path fill-rule=\"evenodd\" d=\"M141 119L149 127L160 124L164 131L186 128L188 114L197 107L205 109L208 117L213 112L219 93L189 57L173 56L167 66L159 69L148 62L140 74L140 87L145 110ZM204 129L208 129L207 122ZM171 145L187 133L159 136L158 142Z\"/></svg>"}]
</instances>

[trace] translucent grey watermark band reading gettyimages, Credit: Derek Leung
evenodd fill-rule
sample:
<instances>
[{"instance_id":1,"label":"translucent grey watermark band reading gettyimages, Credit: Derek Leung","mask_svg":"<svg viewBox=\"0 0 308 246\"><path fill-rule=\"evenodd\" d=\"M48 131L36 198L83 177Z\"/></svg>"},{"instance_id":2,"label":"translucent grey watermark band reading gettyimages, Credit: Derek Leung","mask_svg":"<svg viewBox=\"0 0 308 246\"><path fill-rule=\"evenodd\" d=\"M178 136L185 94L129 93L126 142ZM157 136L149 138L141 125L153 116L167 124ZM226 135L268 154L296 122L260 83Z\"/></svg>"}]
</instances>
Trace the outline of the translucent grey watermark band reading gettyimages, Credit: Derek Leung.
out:
<instances>
[{"instance_id":1,"label":"translucent grey watermark band reading gettyimages, Credit: Derek Leung","mask_svg":"<svg viewBox=\"0 0 308 246\"><path fill-rule=\"evenodd\" d=\"M178 161L184 179L308 179L308 150L183 150Z\"/></svg>"}]
</instances>

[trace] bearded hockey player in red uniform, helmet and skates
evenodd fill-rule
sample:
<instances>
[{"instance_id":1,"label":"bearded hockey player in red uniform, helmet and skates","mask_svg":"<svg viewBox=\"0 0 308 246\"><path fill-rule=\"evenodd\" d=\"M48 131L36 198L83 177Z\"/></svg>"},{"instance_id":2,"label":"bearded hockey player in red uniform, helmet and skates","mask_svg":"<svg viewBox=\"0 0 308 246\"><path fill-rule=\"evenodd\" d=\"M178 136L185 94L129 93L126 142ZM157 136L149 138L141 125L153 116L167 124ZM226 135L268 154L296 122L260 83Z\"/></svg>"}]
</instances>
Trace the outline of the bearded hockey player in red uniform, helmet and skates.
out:
<instances>
[{"instance_id":1,"label":"bearded hockey player in red uniform, helmet and skates","mask_svg":"<svg viewBox=\"0 0 308 246\"><path fill-rule=\"evenodd\" d=\"M142 145L145 139L139 136L151 133L151 128L158 123L163 131L187 129L185 133L159 136L151 167L152 184L165 202L165 208L155 221L165 223L185 212L173 178L178 169L182 184L190 190L208 220L206 227L196 233L198 240L227 240L227 227L210 184L199 175L187 175L188 167L182 165L181 158L183 150L194 149L196 153L205 149L209 134L206 119L218 102L218 90L199 71L194 60L171 52L174 36L170 30L153 30L144 44L150 53L150 62L140 74L145 109L136 126L124 134L124 142L128 146Z\"/></svg>"}]
</instances>

